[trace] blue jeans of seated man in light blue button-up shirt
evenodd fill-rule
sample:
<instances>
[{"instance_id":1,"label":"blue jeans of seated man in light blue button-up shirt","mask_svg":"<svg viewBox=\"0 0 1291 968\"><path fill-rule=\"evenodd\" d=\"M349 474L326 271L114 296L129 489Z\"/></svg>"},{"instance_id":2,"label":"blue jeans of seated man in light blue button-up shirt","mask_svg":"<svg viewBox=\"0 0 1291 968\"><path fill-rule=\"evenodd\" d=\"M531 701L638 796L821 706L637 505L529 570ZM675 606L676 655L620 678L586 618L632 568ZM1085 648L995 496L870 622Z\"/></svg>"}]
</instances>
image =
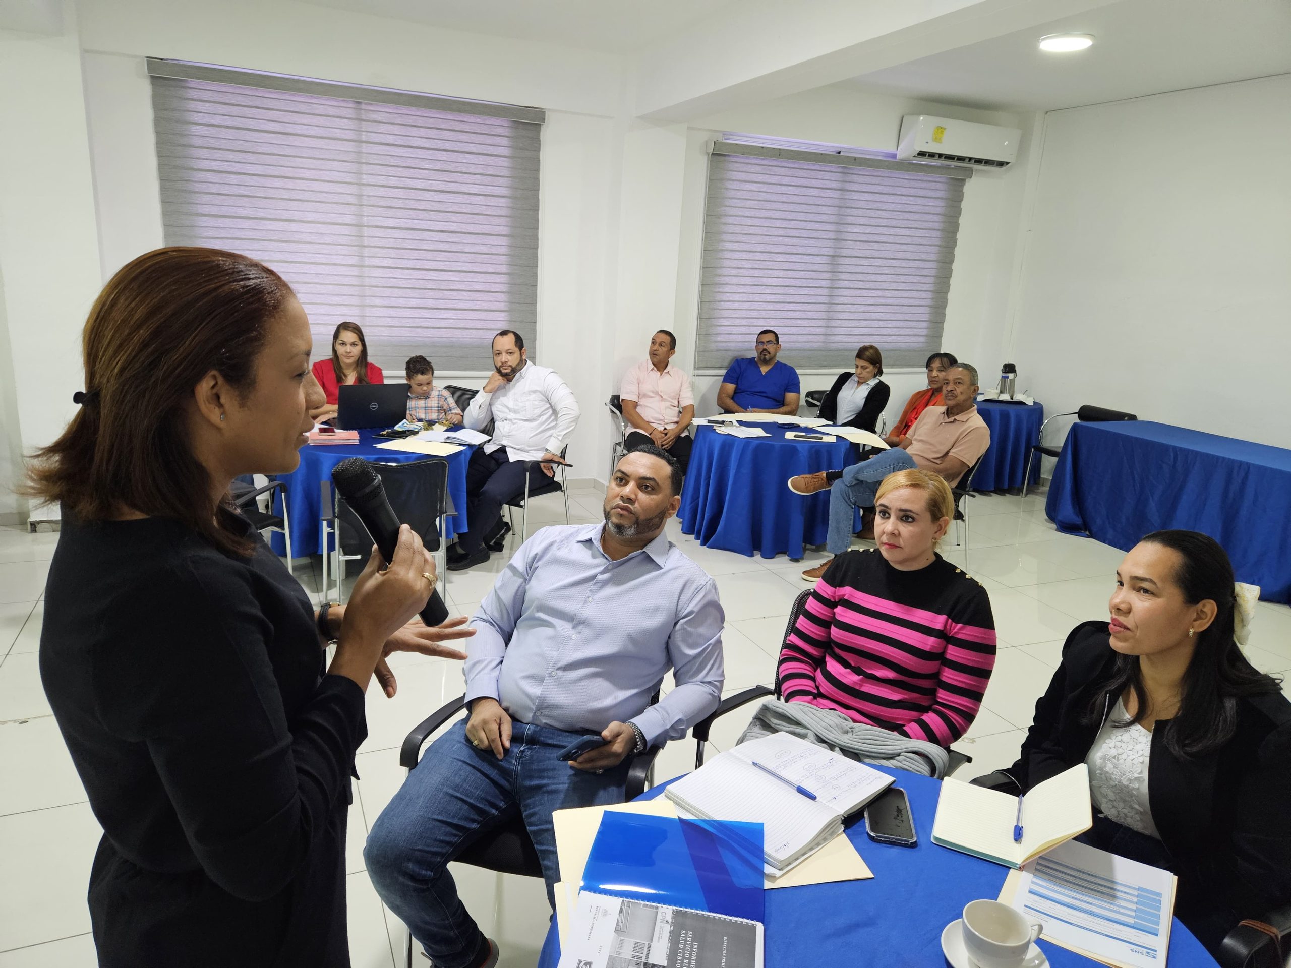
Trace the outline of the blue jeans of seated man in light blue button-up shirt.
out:
<instances>
[{"instance_id":1,"label":"blue jeans of seated man in light blue button-up shirt","mask_svg":"<svg viewBox=\"0 0 1291 968\"><path fill-rule=\"evenodd\" d=\"M421 758L377 817L363 857L368 876L435 968L473 968L488 953L484 936L457 897L448 862L484 830L524 818L542 861L542 879L560 880L551 812L621 803L631 758L602 774L573 769L556 754L581 738L549 727L513 723L500 760L476 750L458 721Z\"/></svg>"}]
</instances>

